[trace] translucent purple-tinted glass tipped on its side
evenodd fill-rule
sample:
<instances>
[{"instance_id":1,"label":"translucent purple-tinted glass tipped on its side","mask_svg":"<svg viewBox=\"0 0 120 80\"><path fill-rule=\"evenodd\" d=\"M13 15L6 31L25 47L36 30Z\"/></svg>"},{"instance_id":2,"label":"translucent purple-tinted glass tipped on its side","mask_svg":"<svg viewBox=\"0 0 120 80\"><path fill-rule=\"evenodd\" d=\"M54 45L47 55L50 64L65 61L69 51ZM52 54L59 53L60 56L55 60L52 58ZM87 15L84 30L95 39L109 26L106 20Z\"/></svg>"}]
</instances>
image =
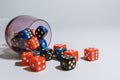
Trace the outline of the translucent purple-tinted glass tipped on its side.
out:
<instances>
[{"instance_id":1,"label":"translucent purple-tinted glass tipped on its side","mask_svg":"<svg viewBox=\"0 0 120 80\"><path fill-rule=\"evenodd\" d=\"M45 20L38 19L36 17L28 16L28 15L17 16L13 18L6 26L5 39L6 39L8 46L14 51L16 51L16 49L13 48L12 43L11 43L11 39L15 36L15 33L20 32L21 30L24 30L25 28L31 28L31 29L36 30L39 26L44 26L48 30L48 33L44 37L44 39L47 42L47 46L49 46L51 42L51 38L52 38L52 32L51 32L50 25ZM21 53L22 50L17 51L17 52Z\"/></svg>"}]
</instances>

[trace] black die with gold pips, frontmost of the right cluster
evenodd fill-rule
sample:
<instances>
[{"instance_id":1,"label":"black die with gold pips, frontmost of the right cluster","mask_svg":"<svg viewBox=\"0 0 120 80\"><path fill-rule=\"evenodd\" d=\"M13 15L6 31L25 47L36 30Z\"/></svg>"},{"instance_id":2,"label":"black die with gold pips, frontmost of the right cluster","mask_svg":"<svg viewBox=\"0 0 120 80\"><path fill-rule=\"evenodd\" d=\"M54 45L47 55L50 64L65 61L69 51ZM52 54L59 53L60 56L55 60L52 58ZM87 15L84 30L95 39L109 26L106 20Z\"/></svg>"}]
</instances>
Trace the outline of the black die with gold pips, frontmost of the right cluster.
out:
<instances>
[{"instance_id":1,"label":"black die with gold pips, frontmost of the right cluster","mask_svg":"<svg viewBox=\"0 0 120 80\"><path fill-rule=\"evenodd\" d=\"M63 70L72 70L76 67L76 60L73 56L62 55L60 65Z\"/></svg>"}]
</instances>

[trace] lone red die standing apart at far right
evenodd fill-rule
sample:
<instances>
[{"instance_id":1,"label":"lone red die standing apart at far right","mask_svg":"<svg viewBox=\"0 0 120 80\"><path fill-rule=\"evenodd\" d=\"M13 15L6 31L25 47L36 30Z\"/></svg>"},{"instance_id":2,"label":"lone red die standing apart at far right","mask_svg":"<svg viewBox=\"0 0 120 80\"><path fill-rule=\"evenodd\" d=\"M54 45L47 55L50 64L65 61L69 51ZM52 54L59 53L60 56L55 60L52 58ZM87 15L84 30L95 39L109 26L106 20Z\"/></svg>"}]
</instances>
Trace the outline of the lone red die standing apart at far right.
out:
<instances>
[{"instance_id":1,"label":"lone red die standing apart at far right","mask_svg":"<svg viewBox=\"0 0 120 80\"><path fill-rule=\"evenodd\" d=\"M84 58L89 61L98 60L99 50L96 48L85 48L84 49Z\"/></svg>"}]
</instances>

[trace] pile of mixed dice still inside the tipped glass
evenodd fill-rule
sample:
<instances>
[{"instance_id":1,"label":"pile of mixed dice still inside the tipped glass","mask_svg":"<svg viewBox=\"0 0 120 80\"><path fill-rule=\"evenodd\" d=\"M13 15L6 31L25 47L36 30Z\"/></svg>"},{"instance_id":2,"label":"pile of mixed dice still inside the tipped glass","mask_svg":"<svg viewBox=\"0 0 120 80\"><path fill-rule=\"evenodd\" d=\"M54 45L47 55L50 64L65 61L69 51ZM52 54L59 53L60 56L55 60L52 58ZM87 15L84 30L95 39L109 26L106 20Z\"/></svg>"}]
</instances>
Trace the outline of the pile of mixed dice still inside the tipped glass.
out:
<instances>
[{"instance_id":1,"label":"pile of mixed dice still inside the tipped glass","mask_svg":"<svg viewBox=\"0 0 120 80\"><path fill-rule=\"evenodd\" d=\"M40 50L47 47L47 42L44 36L48 30L44 26L39 26L34 29L26 28L20 32L16 32L11 39L12 48L18 52L28 50Z\"/></svg>"}]
</instances>

